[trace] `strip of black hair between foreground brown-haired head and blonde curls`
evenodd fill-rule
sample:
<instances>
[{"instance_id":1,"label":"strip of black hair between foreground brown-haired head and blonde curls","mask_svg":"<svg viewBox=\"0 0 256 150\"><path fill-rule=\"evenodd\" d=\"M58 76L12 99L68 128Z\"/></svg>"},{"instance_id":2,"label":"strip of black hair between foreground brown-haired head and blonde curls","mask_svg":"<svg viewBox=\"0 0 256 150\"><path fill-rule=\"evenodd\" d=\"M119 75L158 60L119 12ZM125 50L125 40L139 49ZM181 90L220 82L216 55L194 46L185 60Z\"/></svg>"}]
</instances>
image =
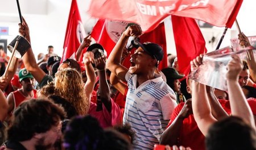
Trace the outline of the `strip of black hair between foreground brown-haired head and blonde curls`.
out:
<instances>
[{"instance_id":1,"label":"strip of black hair between foreground brown-haired head and blonde curls","mask_svg":"<svg viewBox=\"0 0 256 150\"><path fill-rule=\"evenodd\" d=\"M49 95L48 99L51 99L54 103L64 108L67 113L67 118L71 119L73 116L78 115L75 107L67 101L67 99L60 97L59 95Z\"/></svg>"}]
</instances>

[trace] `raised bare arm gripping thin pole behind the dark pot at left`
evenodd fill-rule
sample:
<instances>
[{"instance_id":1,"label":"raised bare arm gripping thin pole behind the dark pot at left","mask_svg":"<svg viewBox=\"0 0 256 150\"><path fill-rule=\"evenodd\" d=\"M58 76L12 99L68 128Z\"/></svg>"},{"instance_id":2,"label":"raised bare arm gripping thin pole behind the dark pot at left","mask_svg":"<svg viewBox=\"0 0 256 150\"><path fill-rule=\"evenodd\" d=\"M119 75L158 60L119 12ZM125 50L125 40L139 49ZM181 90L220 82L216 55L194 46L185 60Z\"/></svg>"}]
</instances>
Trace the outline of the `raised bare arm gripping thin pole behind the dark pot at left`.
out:
<instances>
[{"instance_id":1,"label":"raised bare arm gripping thin pole behind the dark pot at left","mask_svg":"<svg viewBox=\"0 0 256 150\"><path fill-rule=\"evenodd\" d=\"M24 18L22 18L22 20L22 24L19 24L19 33L30 42L30 30L26 20ZM39 68L38 64L36 64L36 59L32 48L29 48L28 51L23 55L22 60L28 72L30 72L35 80L40 83L44 76L46 76L46 73L44 73L44 71Z\"/></svg>"}]
</instances>

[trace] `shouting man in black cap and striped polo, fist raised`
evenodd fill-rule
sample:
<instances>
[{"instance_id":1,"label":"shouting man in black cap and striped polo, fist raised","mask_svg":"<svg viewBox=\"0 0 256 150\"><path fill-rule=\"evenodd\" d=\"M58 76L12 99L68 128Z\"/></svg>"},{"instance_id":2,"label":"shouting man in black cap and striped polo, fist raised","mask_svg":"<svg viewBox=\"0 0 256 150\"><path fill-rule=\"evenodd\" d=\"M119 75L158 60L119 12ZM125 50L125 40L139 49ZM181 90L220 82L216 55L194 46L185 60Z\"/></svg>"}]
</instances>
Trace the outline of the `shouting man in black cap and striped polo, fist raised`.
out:
<instances>
[{"instance_id":1,"label":"shouting man in black cap and striped polo, fist raised","mask_svg":"<svg viewBox=\"0 0 256 150\"><path fill-rule=\"evenodd\" d=\"M174 91L154 73L163 59L163 49L158 44L141 44L134 40L132 44L137 50L131 55L130 68L121 65L127 40L141 34L139 26L129 26L110 53L107 68L122 81L127 81L129 90L123 123L129 123L137 134L134 149L153 149L177 104Z\"/></svg>"}]
</instances>

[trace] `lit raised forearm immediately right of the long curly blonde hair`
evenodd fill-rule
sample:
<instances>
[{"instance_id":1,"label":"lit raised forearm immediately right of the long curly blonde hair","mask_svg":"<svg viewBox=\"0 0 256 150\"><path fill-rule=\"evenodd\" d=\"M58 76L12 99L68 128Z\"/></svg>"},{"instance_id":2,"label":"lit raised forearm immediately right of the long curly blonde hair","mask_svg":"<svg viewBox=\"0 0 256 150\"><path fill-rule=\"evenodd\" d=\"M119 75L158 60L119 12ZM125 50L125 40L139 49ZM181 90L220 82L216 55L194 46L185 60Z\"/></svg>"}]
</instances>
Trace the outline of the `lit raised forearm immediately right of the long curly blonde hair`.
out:
<instances>
[{"instance_id":1,"label":"lit raised forearm immediately right of the long curly blonde hair","mask_svg":"<svg viewBox=\"0 0 256 150\"><path fill-rule=\"evenodd\" d=\"M88 98L91 97L94 85L96 83L96 74L94 72L92 62L94 61L94 55L92 52L84 53L84 57L82 58L85 65L85 73L87 77L87 81L84 85L85 94Z\"/></svg>"}]
</instances>

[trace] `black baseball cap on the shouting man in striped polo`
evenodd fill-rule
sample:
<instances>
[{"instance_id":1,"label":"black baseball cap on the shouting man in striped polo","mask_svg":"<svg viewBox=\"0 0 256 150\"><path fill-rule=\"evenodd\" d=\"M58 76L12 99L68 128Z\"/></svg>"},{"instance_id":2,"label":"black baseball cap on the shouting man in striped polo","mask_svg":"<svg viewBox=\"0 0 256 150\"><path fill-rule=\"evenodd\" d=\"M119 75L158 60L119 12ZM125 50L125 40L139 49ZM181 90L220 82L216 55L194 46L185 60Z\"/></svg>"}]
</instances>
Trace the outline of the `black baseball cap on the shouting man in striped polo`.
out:
<instances>
[{"instance_id":1,"label":"black baseball cap on the shouting man in striped polo","mask_svg":"<svg viewBox=\"0 0 256 150\"><path fill-rule=\"evenodd\" d=\"M151 55L158 61L161 61L163 59L163 48L158 44L151 43L148 41L141 44L139 43L138 40L132 40L131 44L133 44L135 48L141 47L144 51L146 51L149 55Z\"/></svg>"}]
</instances>

